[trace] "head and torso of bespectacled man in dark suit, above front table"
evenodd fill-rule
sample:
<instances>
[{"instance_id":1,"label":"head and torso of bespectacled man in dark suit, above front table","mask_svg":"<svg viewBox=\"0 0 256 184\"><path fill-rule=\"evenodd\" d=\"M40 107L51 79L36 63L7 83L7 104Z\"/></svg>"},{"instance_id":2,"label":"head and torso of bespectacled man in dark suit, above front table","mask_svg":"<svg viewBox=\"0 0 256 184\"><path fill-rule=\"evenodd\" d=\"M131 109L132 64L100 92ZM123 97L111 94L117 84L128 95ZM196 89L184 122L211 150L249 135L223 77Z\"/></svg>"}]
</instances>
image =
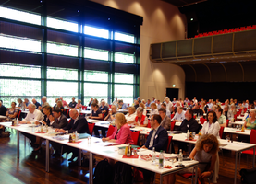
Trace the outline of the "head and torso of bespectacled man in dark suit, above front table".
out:
<instances>
[{"instance_id":1,"label":"head and torso of bespectacled man in dark suit, above front table","mask_svg":"<svg viewBox=\"0 0 256 184\"><path fill-rule=\"evenodd\" d=\"M168 133L164 127L160 126L162 118L160 115L155 114L151 118L152 131L150 132L147 142L142 146L142 148L147 148L159 152L160 150L165 150L168 144Z\"/></svg>"}]
</instances>

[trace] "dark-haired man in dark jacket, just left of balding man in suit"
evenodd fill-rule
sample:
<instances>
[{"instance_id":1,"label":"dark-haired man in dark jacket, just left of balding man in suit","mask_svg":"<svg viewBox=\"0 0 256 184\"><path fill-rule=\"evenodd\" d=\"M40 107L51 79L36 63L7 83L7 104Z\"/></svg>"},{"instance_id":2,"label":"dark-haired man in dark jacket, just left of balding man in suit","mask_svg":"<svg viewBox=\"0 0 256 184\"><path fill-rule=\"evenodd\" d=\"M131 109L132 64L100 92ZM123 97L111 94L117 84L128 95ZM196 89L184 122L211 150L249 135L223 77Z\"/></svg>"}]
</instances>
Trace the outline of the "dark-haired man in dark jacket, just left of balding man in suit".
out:
<instances>
[{"instance_id":1,"label":"dark-haired man in dark jacket, just left of balding man in suit","mask_svg":"<svg viewBox=\"0 0 256 184\"><path fill-rule=\"evenodd\" d=\"M62 129L67 126L67 117L62 113L61 109L53 110L54 117L50 118L50 125L57 129Z\"/></svg>"}]
</instances>

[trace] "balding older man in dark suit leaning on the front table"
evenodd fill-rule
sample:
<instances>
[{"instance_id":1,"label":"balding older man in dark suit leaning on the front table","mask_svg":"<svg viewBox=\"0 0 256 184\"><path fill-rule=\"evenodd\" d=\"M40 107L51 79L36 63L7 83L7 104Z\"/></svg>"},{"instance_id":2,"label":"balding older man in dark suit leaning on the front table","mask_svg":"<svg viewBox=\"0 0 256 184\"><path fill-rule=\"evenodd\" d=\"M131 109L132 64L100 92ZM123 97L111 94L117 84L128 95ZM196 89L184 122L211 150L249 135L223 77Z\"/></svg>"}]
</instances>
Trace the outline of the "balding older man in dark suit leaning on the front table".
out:
<instances>
[{"instance_id":1,"label":"balding older man in dark suit leaning on the front table","mask_svg":"<svg viewBox=\"0 0 256 184\"><path fill-rule=\"evenodd\" d=\"M63 133L73 133L73 132L78 132L78 133L88 133L89 128L88 128L88 123L84 116L79 115L79 112L77 109L71 109L69 111L69 116L71 118L71 121L67 123L67 126L64 127L63 129L55 129L55 132L63 132ZM63 145L63 153L73 153L72 157L68 159L68 161L72 161L75 157L79 155L79 150L74 147L70 147L68 145L64 144L58 144L55 142L51 142L55 149L55 156L60 156L60 150L61 146Z\"/></svg>"}]
</instances>

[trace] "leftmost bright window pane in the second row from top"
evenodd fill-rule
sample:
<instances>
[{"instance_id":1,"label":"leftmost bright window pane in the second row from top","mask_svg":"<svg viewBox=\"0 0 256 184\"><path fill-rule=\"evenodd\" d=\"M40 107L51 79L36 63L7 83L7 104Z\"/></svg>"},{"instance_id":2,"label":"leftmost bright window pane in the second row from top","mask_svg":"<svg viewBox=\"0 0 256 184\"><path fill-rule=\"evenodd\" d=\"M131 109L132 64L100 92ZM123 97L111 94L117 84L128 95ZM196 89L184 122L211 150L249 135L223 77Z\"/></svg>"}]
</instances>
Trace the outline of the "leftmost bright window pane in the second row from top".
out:
<instances>
[{"instance_id":1,"label":"leftmost bright window pane in the second row from top","mask_svg":"<svg viewBox=\"0 0 256 184\"><path fill-rule=\"evenodd\" d=\"M0 48L41 52L41 41L28 38L13 37L0 33Z\"/></svg>"}]
</instances>

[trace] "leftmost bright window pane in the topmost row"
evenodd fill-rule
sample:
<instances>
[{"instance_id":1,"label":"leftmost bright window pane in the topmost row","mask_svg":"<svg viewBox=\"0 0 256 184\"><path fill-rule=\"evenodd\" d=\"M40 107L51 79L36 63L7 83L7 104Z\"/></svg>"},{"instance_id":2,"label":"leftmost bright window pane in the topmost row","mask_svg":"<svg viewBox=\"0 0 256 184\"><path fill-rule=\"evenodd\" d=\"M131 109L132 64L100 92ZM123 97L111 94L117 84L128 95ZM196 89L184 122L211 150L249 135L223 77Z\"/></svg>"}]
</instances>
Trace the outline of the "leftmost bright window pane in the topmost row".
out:
<instances>
[{"instance_id":1,"label":"leftmost bright window pane in the topmost row","mask_svg":"<svg viewBox=\"0 0 256 184\"><path fill-rule=\"evenodd\" d=\"M0 6L0 17L41 25L41 16Z\"/></svg>"}]
</instances>

